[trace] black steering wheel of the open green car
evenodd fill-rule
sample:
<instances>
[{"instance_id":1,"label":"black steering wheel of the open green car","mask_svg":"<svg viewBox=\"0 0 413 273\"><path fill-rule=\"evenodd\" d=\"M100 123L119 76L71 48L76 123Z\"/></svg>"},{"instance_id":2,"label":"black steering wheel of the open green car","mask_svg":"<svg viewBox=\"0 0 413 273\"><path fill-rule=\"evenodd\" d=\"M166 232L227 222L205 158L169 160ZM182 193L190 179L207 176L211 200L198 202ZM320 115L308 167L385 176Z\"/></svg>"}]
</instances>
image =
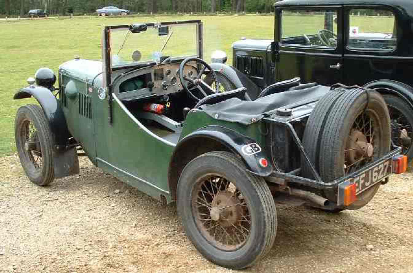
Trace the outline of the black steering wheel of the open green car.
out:
<instances>
[{"instance_id":1,"label":"black steering wheel of the open green car","mask_svg":"<svg viewBox=\"0 0 413 273\"><path fill-rule=\"evenodd\" d=\"M196 66L200 68L201 70L199 71L198 75L185 75L184 74L184 68L185 66L190 63L190 62L196 62ZM207 70L208 69L208 70ZM204 73L209 72L210 75L212 76L213 80L217 83L216 90L212 89L211 86L209 86L204 80L202 80L202 75ZM208 96L208 94L205 92L204 88L207 88L207 90L210 90L212 93L219 93L219 83L218 80L216 79L216 74L214 70L207 64L204 60L199 59L199 58L186 58L185 60L182 61L182 63L179 66L179 79L182 84L183 89L194 99L195 101L200 101L204 97ZM204 87L204 88L202 88ZM194 95L194 93L191 90L198 89L199 92L202 94L202 98L198 98L197 96Z\"/></svg>"}]
</instances>

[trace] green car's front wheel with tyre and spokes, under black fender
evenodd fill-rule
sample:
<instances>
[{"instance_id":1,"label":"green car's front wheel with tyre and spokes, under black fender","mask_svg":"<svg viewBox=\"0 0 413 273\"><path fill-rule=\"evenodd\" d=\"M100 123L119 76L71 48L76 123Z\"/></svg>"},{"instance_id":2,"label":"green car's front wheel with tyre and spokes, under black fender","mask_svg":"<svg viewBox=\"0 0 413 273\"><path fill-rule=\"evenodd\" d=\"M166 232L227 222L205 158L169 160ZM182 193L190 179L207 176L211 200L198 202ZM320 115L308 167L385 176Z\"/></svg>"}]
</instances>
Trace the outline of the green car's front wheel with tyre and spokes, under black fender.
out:
<instances>
[{"instance_id":1,"label":"green car's front wheel with tyre and spokes, under black fender","mask_svg":"<svg viewBox=\"0 0 413 273\"><path fill-rule=\"evenodd\" d=\"M42 108L33 104L21 106L16 114L14 136L21 165L30 181L39 186L52 182L52 134Z\"/></svg>"}]
</instances>

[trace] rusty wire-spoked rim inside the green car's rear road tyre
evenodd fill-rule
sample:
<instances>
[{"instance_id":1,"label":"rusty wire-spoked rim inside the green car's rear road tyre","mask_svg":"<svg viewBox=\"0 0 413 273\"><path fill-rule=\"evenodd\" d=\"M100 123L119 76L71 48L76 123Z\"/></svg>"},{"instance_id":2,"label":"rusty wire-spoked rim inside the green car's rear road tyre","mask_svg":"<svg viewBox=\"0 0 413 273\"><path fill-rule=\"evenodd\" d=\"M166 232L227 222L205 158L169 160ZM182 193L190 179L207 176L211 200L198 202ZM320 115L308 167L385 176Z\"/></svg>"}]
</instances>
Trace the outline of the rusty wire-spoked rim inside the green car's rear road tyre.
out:
<instances>
[{"instance_id":1,"label":"rusty wire-spoked rim inside the green car's rear road tyre","mask_svg":"<svg viewBox=\"0 0 413 273\"><path fill-rule=\"evenodd\" d=\"M237 186L224 177L201 177L194 188L192 208L199 231L218 249L234 251L248 240L249 205Z\"/></svg>"}]
</instances>

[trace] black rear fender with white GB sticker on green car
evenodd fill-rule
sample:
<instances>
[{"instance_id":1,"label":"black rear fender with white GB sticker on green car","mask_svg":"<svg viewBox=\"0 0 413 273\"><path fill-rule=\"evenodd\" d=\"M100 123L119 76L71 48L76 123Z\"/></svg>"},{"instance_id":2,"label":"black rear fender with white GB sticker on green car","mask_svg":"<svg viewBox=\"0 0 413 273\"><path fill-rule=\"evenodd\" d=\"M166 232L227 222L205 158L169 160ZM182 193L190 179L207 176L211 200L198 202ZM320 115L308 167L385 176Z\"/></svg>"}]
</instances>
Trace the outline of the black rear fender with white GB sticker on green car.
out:
<instances>
[{"instance_id":1,"label":"black rear fender with white GB sticker on green car","mask_svg":"<svg viewBox=\"0 0 413 273\"><path fill-rule=\"evenodd\" d=\"M185 136L177 145L176 150L179 151L179 147L185 145L185 142L194 138L209 138L220 142L226 146L230 151L239 155L247 165L247 171L256 174L261 177L267 177L273 172L273 167L269 163L271 160L264 153L259 144L250 139L247 136L239 134L231 129L220 126L207 126L192 132L188 136ZM259 164L259 160L266 159L268 165L262 167Z\"/></svg>"}]
</instances>

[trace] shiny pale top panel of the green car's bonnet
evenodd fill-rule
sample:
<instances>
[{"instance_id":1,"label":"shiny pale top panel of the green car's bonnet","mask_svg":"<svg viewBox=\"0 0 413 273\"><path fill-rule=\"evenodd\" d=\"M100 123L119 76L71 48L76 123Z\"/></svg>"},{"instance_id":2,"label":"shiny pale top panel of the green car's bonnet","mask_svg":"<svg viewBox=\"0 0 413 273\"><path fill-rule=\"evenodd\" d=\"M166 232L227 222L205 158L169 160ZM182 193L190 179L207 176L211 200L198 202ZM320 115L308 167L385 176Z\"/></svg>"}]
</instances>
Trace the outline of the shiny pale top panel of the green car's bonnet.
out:
<instances>
[{"instance_id":1,"label":"shiny pale top panel of the green car's bonnet","mask_svg":"<svg viewBox=\"0 0 413 273\"><path fill-rule=\"evenodd\" d=\"M59 66L59 74L76 78L89 85L102 87L102 61L74 59Z\"/></svg>"}]
</instances>

